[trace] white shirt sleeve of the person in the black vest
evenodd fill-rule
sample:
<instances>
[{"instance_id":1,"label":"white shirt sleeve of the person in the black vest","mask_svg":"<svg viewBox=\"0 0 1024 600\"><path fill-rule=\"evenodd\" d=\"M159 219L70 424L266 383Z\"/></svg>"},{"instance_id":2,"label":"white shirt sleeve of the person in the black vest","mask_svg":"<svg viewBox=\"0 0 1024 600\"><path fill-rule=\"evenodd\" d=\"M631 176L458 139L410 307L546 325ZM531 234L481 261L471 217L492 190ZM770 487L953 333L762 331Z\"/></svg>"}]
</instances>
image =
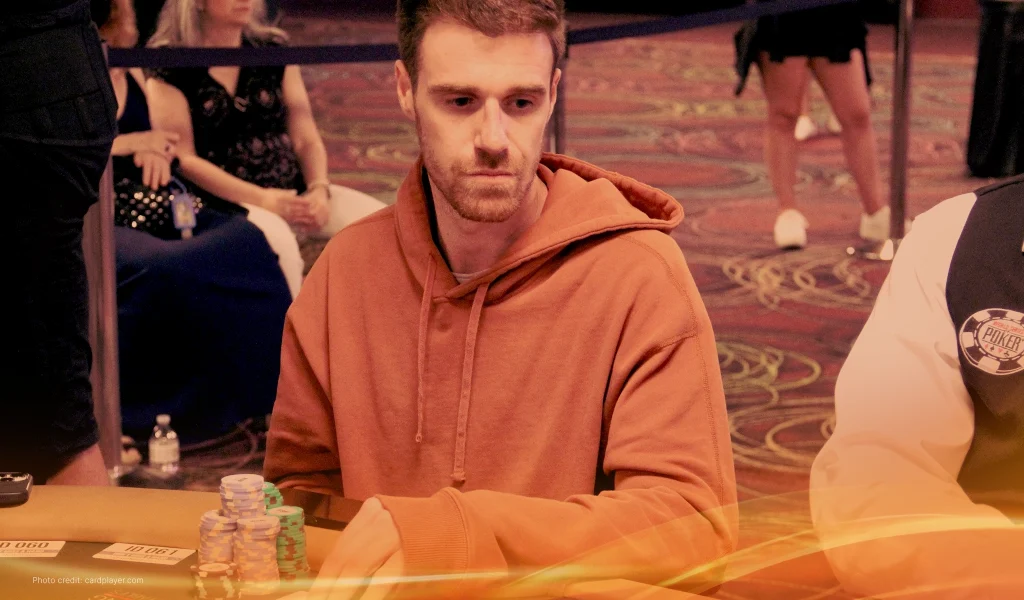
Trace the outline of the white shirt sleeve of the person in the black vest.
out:
<instances>
[{"instance_id":1,"label":"white shirt sleeve of the person in the black vest","mask_svg":"<svg viewBox=\"0 0 1024 600\"><path fill-rule=\"evenodd\" d=\"M837 382L811 516L833 571L858 595L1020 596L1020 576L1007 577L1020 572L1024 531L956 480L974 412L945 290L974 202L957 197L914 221Z\"/></svg>"}]
</instances>

